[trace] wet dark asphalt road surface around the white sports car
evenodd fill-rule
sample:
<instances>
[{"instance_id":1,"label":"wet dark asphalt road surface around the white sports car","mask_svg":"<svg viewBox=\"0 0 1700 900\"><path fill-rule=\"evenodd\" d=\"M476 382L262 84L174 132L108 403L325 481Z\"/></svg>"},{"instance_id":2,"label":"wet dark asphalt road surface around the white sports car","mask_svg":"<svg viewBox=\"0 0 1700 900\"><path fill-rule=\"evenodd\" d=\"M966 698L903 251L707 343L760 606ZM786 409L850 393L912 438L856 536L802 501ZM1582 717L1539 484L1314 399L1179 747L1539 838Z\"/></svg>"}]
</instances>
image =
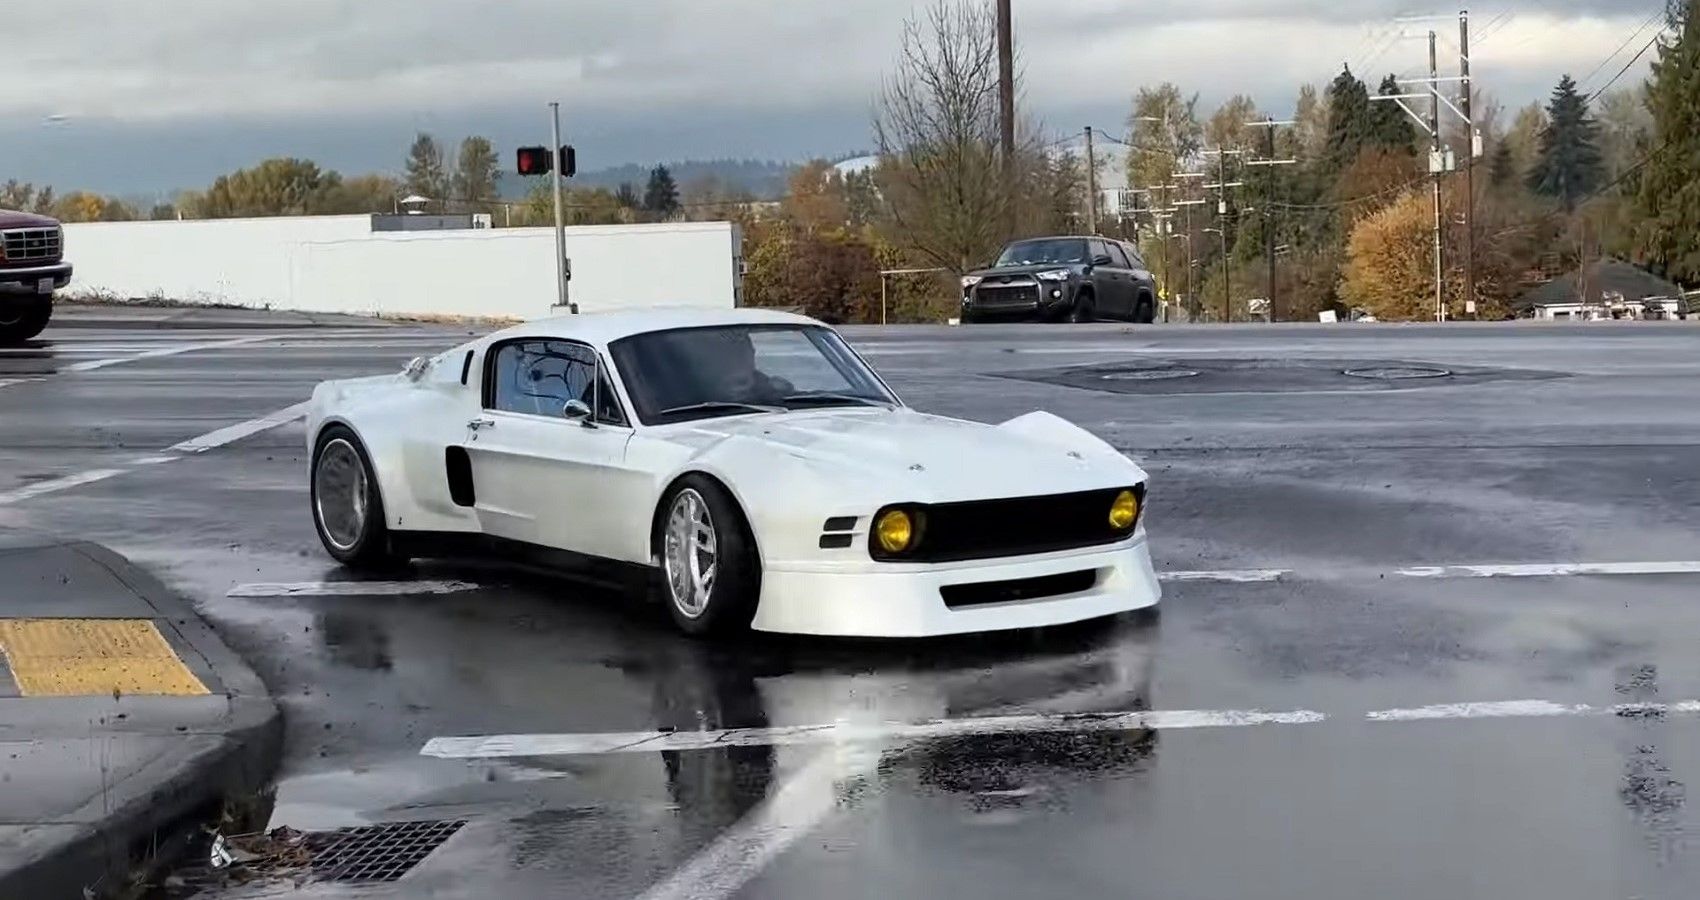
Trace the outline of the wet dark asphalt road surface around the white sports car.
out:
<instances>
[{"instance_id":1,"label":"wet dark asphalt road surface around the white sports car","mask_svg":"<svg viewBox=\"0 0 1700 900\"><path fill-rule=\"evenodd\" d=\"M347 578L308 519L301 424L133 461L464 332L230 344L253 335L66 330L0 352L0 495L119 471L3 502L0 524L114 546L250 657L287 716L272 823L468 822L388 888L219 897L1700 895L1700 716L1365 718L1700 699L1700 575L1399 573L1700 560L1700 328L852 328L911 405L1047 408L1139 459L1159 572L1284 573L1170 582L1158 616L1046 633L719 647L476 565L415 572L471 592L228 597ZM66 371L87 361L116 362ZM1348 362L1459 374L1367 383ZM1326 720L420 755L454 735L1130 709Z\"/></svg>"}]
</instances>

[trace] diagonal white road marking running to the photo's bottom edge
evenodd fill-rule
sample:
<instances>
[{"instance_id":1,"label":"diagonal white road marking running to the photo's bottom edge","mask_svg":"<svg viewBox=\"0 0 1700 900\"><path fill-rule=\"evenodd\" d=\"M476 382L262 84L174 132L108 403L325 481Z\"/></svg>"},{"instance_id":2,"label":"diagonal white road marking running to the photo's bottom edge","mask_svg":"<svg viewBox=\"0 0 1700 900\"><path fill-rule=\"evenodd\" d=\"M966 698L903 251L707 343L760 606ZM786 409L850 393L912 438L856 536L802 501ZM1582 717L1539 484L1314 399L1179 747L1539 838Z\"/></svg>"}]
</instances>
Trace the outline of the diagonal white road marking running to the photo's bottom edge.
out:
<instances>
[{"instance_id":1,"label":"diagonal white road marking running to the photo's bottom edge","mask_svg":"<svg viewBox=\"0 0 1700 900\"><path fill-rule=\"evenodd\" d=\"M733 897L836 810L847 783L869 778L877 767L879 754L869 749L823 752L639 900Z\"/></svg>"}]
</instances>

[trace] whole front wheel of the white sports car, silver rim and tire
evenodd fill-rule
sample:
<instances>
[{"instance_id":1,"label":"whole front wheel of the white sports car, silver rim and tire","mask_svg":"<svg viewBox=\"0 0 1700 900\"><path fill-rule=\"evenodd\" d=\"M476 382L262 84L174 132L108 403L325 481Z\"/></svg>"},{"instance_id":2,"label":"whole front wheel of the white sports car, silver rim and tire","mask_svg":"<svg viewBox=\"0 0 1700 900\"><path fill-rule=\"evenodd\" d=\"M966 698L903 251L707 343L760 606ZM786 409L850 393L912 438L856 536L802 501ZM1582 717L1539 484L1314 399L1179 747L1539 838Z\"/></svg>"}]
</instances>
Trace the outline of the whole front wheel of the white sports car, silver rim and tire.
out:
<instances>
[{"instance_id":1,"label":"whole front wheel of the white sports car, silver rim and tire","mask_svg":"<svg viewBox=\"0 0 1700 900\"><path fill-rule=\"evenodd\" d=\"M687 475L661 498L656 550L661 595L687 635L750 628L762 592L762 563L750 524L731 493Z\"/></svg>"}]
</instances>

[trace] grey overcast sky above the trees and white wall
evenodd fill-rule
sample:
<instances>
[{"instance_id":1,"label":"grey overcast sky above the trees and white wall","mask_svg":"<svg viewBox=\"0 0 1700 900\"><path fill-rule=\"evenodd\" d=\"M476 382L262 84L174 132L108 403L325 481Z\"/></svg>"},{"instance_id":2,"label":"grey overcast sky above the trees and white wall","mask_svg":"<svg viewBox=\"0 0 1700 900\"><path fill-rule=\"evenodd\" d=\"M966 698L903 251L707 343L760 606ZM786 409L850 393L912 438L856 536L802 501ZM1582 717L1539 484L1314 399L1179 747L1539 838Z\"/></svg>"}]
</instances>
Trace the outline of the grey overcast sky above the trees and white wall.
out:
<instances>
[{"instance_id":1,"label":"grey overcast sky above the trees and white wall","mask_svg":"<svg viewBox=\"0 0 1700 900\"><path fill-rule=\"evenodd\" d=\"M1013 0L1023 112L1120 129L1139 85L1202 107L1426 68L1399 0ZM3 12L0 179L110 192L202 185L267 155L396 170L416 129L481 133L508 160L559 99L583 168L838 157L869 117L916 0L53 0ZM1481 87L1504 105L1584 87L1651 39L1659 0L1498 0L1472 10ZM1452 7L1414 12L1454 14ZM1402 26L1413 36L1428 26ZM1457 24L1435 27L1455 41ZM22 39L19 39L22 37ZM1634 37L1634 39L1632 39ZM1651 54L1649 54L1651 56ZM1442 46L1442 68L1457 54ZM1639 78L1646 58L1624 82ZM1372 78L1374 80L1374 78ZM51 117L51 119L49 119Z\"/></svg>"}]
</instances>

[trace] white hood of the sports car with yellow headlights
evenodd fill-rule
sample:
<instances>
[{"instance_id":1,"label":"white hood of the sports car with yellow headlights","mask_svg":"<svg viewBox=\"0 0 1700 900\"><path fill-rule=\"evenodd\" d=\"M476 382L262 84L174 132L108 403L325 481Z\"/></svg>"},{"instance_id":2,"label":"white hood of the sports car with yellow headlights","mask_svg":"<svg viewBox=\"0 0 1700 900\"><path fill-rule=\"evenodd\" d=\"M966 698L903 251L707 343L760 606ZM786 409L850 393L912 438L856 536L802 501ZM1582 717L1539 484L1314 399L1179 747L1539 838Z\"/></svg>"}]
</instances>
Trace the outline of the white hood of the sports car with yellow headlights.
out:
<instances>
[{"instance_id":1,"label":"white hood of the sports car with yellow headlights","mask_svg":"<svg viewBox=\"0 0 1700 900\"><path fill-rule=\"evenodd\" d=\"M1044 413L1037 413L1044 415ZM821 410L695 422L677 436L699 453L741 442L799 461L858 497L957 502L1132 485L1144 471L1056 417L1042 436L913 410Z\"/></svg>"}]
</instances>

